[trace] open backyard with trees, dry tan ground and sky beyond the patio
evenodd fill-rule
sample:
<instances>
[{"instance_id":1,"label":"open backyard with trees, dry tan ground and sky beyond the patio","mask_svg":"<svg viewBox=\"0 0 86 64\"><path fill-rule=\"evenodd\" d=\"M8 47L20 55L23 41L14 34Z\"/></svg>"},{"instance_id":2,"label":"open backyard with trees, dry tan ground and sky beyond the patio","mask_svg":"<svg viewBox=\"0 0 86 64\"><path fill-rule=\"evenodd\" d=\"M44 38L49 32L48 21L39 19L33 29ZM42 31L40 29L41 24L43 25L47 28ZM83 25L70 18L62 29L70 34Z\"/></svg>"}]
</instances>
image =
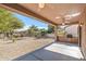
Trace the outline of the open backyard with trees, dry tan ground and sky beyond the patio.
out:
<instances>
[{"instance_id":1,"label":"open backyard with trees, dry tan ground and sky beyond the patio","mask_svg":"<svg viewBox=\"0 0 86 64\"><path fill-rule=\"evenodd\" d=\"M20 14L0 8L0 60L2 61L16 59L54 41L51 27L49 29L46 29L46 27L38 28L44 23L35 26L38 24L38 21L22 15L16 17L17 15L20 16ZM23 20L21 20L22 17ZM30 21L37 23L34 24ZM30 26L24 29L27 23Z\"/></svg>"}]
</instances>

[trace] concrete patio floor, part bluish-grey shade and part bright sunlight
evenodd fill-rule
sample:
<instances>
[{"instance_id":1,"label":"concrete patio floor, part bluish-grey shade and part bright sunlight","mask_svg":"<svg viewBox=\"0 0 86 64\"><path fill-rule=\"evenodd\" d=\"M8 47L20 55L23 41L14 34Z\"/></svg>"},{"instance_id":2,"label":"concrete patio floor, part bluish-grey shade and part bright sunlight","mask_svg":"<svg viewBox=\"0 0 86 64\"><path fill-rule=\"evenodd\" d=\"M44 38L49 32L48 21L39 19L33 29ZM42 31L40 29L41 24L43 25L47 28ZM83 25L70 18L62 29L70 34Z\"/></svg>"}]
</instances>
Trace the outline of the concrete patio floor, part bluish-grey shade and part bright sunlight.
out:
<instances>
[{"instance_id":1,"label":"concrete patio floor, part bluish-grey shade and part bright sunlight","mask_svg":"<svg viewBox=\"0 0 86 64\"><path fill-rule=\"evenodd\" d=\"M77 44L54 42L48 47L22 55L14 61L81 61L83 55Z\"/></svg>"}]
</instances>

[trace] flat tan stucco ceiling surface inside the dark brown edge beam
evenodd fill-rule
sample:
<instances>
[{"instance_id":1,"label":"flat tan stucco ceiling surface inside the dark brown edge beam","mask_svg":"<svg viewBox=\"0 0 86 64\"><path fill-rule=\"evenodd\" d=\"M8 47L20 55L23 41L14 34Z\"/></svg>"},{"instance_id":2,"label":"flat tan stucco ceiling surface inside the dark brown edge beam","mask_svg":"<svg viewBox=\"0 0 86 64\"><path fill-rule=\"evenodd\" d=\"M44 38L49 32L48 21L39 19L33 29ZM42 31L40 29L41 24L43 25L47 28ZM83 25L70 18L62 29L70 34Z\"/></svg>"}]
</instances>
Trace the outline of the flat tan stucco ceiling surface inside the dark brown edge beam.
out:
<instances>
[{"instance_id":1,"label":"flat tan stucco ceiling surface inside the dark brown edge beam","mask_svg":"<svg viewBox=\"0 0 86 64\"><path fill-rule=\"evenodd\" d=\"M26 9L32 10L33 12L49 18L50 21L62 24L63 17L65 15L73 15L76 13L82 13L85 4L74 4L74 3L45 3L44 8L39 8L38 3L21 3L21 5L25 7ZM60 18L57 18L60 17ZM71 17L67 23L77 22L79 15Z\"/></svg>"}]
</instances>

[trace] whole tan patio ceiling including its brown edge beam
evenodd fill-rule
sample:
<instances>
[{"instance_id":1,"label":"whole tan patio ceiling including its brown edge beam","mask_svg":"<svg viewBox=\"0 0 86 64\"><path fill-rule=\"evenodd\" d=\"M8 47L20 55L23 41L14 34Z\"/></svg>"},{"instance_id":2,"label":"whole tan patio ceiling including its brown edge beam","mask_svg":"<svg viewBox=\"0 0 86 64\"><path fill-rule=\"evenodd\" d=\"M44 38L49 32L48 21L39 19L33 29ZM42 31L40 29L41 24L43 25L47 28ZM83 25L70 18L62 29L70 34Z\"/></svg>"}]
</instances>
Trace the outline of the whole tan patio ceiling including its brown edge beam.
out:
<instances>
[{"instance_id":1,"label":"whole tan patio ceiling including its brown edge beam","mask_svg":"<svg viewBox=\"0 0 86 64\"><path fill-rule=\"evenodd\" d=\"M76 24L86 4L81 3L1 3L8 10L33 16L53 25Z\"/></svg>"}]
</instances>

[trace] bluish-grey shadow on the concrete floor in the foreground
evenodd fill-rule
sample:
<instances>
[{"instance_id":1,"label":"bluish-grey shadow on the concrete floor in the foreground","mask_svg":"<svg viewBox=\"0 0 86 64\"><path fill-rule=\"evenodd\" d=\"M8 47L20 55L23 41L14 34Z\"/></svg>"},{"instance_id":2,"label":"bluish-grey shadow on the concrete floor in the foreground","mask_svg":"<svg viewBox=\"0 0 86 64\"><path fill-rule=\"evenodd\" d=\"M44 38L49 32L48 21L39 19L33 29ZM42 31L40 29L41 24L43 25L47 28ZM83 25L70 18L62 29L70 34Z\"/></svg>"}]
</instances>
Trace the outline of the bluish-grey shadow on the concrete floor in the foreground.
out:
<instances>
[{"instance_id":1,"label":"bluish-grey shadow on the concrete floor in the foreground","mask_svg":"<svg viewBox=\"0 0 86 64\"><path fill-rule=\"evenodd\" d=\"M81 60L76 57L72 57L70 55L64 55L61 53L41 49L22 55L17 59L14 59L13 61L81 61Z\"/></svg>"}]
</instances>

